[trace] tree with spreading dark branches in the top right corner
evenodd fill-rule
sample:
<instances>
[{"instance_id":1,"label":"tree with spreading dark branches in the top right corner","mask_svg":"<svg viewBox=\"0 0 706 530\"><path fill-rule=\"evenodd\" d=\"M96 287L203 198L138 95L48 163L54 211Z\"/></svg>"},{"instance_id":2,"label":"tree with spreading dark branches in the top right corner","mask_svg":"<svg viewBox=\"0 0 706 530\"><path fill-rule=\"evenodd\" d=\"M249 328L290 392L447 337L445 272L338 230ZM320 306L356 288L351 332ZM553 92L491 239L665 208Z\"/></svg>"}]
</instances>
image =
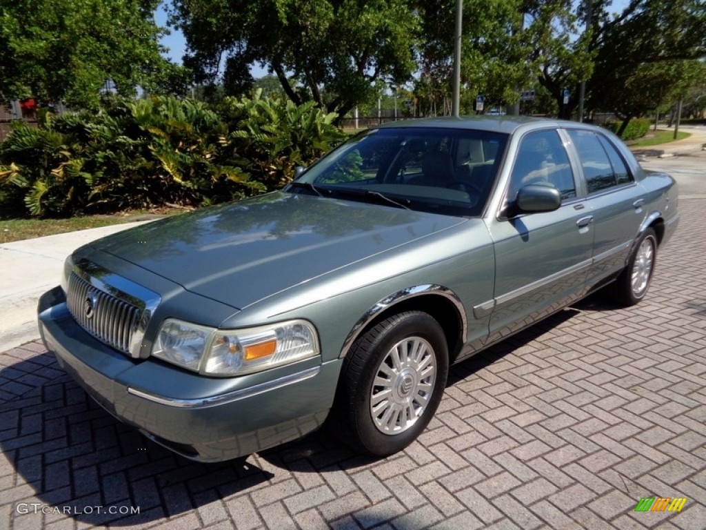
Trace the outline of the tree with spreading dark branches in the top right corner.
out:
<instances>
[{"instance_id":1,"label":"tree with spreading dark branches in the top right corner","mask_svg":"<svg viewBox=\"0 0 706 530\"><path fill-rule=\"evenodd\" d=\"M564 0L537 1L532 43L542 65L539 82L561 102L570 90L566 116L578 104L586 82L593 109L612 108L625 80L643 64L706 55L704 0L630 0L611 13L611 0L585 0L578 10ZM547 18L543 13L554 13ZM580 23L589 22L582 32Z\"/></svg>"}]
</instances>

